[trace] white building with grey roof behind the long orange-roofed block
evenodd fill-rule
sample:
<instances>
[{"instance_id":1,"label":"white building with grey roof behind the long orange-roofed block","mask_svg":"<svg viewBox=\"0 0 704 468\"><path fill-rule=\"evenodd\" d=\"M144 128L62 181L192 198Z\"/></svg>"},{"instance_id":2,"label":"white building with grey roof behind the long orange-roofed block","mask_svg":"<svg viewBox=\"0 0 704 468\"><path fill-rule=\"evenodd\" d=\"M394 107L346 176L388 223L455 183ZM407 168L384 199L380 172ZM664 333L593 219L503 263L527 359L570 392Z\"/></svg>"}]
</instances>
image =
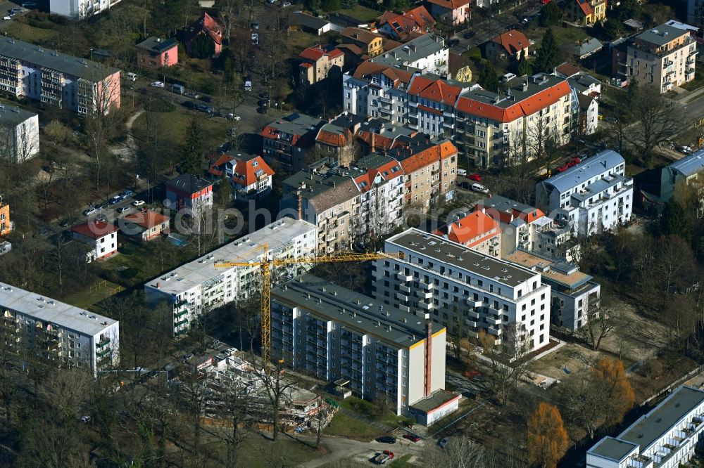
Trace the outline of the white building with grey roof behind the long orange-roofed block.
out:
<instances>
[{"instance_id":1,"label":"white building with grey roof behind the long orange-roofed block","mask_svg":"<svg viewBox=\"0 0 704 468\"><path fill-rule=\"evenodd\" d=\"M448 74L449 49L445 39L435 34L422 34L369 60L387 67L409 67L441 76Z\"/></svg>"}]
</instances>

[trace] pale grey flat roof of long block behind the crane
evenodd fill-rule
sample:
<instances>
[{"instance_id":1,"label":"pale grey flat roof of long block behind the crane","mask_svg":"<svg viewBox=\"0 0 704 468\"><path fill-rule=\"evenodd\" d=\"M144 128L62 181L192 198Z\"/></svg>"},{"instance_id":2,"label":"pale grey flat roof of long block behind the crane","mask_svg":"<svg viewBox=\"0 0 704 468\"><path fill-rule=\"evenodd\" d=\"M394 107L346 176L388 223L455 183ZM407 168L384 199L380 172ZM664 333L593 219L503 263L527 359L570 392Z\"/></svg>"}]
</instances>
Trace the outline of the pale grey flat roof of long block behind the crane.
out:
<instances>
[{"instance_id":1,"label":"pale grey flat roof of long block behind the crane","mask_svg":"<svg viewBox=\"0 0 704 468\"><path fill-rule=\"evenodd\" d=\"M146 285L156 288L158 283L158 290L164 294L181 294L208 280L218 278L228 271L227 268L215 266L216 263L257 261L264 255L262 248L264 244L268 244L269 249L276 250L299 235L311 231L315 235L315 226L308 221L282 218L260 230L223 245L199 259L190 261L168 273L162 273L146 282Z\"/></svg>"}]
</instances>

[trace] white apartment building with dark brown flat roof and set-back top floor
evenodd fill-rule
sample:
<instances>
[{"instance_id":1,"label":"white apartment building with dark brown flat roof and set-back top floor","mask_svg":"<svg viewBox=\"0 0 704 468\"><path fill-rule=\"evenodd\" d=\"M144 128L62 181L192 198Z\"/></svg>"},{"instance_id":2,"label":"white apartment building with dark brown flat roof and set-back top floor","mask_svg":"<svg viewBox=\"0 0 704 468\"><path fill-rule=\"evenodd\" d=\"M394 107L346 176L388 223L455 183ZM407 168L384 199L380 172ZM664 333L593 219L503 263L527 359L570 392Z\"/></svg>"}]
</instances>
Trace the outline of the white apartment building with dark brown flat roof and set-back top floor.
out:
<instances>
[{"instance_id":1,"label":"white apartment building with dark brown flat roof and set-back top floor","mask_svg":"<svg viewBox=\"0 0 704 468\"><path fill-rule=\"evenodd\" d=\"M548 344L551 288L541 273L415 228L386 240L384 252L404 259L375 262L375 298L402 311L429 313L435 323L496 344L533 351Z\"/></svg>"}]
</instances>

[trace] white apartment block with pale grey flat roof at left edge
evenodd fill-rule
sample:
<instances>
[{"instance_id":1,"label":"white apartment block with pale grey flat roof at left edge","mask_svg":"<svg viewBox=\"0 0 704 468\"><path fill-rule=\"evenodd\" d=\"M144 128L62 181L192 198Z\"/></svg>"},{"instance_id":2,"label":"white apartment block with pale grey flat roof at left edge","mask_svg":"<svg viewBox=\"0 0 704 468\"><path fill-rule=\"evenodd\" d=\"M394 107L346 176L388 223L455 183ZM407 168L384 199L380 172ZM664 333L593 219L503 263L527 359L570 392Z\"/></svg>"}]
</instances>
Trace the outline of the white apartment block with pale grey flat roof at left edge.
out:
<instances>
[{"instance_id":1,"label":"white apartment block with pale grey flat roof at left edge","mask_svg":"<svg viewBox=\"0 0 704 468\"><path fill-rule=\"evenodd\" d=\"M117 320L0 282L0 340L56 366L101 368L120 362Z\"/></svg>"}]
</instances>

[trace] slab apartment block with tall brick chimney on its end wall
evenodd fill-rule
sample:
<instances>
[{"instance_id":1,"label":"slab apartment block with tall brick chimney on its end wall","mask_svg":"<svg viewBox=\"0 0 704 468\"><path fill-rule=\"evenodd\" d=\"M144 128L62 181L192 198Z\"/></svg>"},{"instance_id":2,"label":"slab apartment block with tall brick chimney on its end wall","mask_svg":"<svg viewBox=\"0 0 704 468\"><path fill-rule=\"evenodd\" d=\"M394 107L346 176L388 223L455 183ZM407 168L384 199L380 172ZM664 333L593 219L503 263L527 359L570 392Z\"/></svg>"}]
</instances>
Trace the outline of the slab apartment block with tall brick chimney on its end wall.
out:
<instances>
[{"instance_id":1,"label":"slab apartment block with tall brick chimney on its end wall","mask_svg":"<svg viewBox=\"0 0 704 468\"><path fill-rule=\"evenodd\" d=\"M444 327L304 274L271 291L272 355L396 414L445 386Z\"/></svg>"}]
</instances>

